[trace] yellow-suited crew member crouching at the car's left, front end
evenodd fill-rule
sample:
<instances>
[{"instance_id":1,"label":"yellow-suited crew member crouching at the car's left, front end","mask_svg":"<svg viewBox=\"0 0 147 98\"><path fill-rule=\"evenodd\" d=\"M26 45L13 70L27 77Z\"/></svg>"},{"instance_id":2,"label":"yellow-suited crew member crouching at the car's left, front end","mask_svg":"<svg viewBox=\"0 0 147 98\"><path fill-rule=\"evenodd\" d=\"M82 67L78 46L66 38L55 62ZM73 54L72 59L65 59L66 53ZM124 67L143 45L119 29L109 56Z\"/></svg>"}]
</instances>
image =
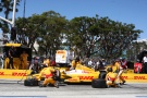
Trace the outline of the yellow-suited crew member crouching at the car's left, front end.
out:
<instances>
[{"instance_id":1,"label":"yellow-suited crew member crouching at the car's left, front end","mask_svg":"<svg viewBox=\"0 0 147 98\"><path fill-rule=\"evenodd\" d=\"M48 84L52 84L56 87L58 86L56 84L56 81L53 79L53 74L57 72L56 69L53 68L46 68L44 69L44 71L41 72L40 76L45 76L45 81L41 85L39 85L40 87L46 87Z\"/></svg>"}]
</instances>

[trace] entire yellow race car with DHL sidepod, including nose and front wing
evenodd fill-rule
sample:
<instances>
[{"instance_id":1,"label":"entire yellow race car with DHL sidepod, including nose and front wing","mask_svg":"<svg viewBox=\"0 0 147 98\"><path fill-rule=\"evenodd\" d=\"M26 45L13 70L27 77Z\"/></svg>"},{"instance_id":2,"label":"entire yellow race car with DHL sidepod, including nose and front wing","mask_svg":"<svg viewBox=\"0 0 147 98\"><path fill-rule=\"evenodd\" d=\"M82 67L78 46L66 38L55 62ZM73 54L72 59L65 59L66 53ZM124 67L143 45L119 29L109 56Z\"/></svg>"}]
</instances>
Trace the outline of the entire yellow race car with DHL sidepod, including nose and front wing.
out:
<instances>
[{"instance_id":1,"label":"entire yellow race car with DHL sidepod, including nose and front wing","mask_svg":"<svg viewBox=\"0 0 147 98\"><path fill-rule=\"evenodd\" d=\"M94 69L90 69L88 66L77 64L75 70L68 70L68 68L60 68L60 66L49 66L54 68L58 70L58 75L53 78L58 78L59 83L91 83L94 78L99 78L100 75L106 75L105 70L101 71L95 71ZM44 68L39 73L37 74L30 74L26 77L24 81L24 86L39 86L39 84L45 81L46 78L46 71L49 68Z\"/></svg>"}]
</instances>

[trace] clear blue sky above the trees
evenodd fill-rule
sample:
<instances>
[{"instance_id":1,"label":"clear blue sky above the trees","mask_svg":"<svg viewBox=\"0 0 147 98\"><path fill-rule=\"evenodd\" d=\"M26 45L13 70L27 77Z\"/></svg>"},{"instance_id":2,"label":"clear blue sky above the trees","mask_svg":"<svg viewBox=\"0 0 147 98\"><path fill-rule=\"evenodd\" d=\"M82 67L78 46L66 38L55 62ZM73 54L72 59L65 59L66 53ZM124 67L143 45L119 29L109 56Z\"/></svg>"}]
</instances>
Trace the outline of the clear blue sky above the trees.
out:
<instances>
[{"instance_id":1,"label":"clear blue sky above the trees","mask_svg":"<svg viewBox=\"0 0 147 98\"><path fill-rule=\"evenodd\" d=\"M147 39L147 0L26 0L25 16L54 11L71 20L75 16L108 16L113 21L134 24L142 29L138 39ZM24 0L16 17L23 17ZM2 13L0 13L2 16ZM11 16L10 16L11 17Z\"/></svg>"}]
</instances>

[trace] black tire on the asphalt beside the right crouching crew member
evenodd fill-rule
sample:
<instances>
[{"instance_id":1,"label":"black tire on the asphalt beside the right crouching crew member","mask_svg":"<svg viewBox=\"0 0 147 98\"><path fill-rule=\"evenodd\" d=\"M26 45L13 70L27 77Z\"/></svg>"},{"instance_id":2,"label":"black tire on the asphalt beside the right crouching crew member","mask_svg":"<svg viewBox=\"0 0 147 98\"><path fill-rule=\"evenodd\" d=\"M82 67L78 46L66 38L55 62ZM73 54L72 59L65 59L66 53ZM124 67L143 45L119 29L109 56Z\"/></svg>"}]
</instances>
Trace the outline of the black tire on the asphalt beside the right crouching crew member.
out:
<instances>
[{"instance_id":1,"label":"black tire on the asphalt beside the right crouching crew member","mask_svg":"<svg viewBox=\"0 0 147 98\"><path fill-rule=\"evenodd\" d=\"M106 84L106 81L102 78L93 79L91 87L93 88L107 88L107 84Z\"/></svg>"}]
</instances>

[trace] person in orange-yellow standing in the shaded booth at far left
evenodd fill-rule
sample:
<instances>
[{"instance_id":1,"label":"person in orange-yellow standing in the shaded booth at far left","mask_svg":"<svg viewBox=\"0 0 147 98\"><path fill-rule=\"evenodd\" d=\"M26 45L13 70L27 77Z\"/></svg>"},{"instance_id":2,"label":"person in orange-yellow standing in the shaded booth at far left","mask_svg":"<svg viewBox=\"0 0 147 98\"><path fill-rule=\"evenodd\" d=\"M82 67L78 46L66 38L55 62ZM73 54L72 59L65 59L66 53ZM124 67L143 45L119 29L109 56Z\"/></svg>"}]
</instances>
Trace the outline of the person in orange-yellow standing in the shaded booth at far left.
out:
<instances>
[{"instance_id":1,"label":"person in orange-yellow standing in the shaded booth at far left","mask_svg":"<svg viewBox=\"0 0 147 98\"><path fill-rule=\"evenodd\" d=\"M26 51L23 51L23 53L21 54L21 64L22 64L22 70L26 70L27 69L27 58L28 54L26 53Z\"/></svg>"}]
</instances>

